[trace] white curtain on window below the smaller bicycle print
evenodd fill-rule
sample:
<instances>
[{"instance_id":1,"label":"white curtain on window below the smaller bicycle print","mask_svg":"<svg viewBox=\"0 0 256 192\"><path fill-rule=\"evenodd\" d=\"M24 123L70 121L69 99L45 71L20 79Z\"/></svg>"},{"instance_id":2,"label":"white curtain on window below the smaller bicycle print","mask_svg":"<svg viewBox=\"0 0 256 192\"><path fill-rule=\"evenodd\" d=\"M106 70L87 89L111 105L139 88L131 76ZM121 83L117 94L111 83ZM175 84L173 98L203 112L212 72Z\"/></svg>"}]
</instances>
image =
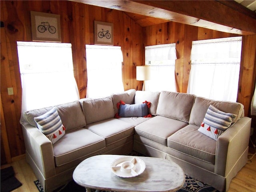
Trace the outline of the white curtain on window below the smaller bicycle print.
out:
<instances>
[{"instance_id":1,"label":"white curtain on window below the smaller bicycle print","mask_svg":"<svg viewBox=\"0 0 256 192\"><path fill-rule=\"evenodd\" d=\"M124 91L120 46L86 45L87 92L96 98Z\"/></svg>"}]
</instances>

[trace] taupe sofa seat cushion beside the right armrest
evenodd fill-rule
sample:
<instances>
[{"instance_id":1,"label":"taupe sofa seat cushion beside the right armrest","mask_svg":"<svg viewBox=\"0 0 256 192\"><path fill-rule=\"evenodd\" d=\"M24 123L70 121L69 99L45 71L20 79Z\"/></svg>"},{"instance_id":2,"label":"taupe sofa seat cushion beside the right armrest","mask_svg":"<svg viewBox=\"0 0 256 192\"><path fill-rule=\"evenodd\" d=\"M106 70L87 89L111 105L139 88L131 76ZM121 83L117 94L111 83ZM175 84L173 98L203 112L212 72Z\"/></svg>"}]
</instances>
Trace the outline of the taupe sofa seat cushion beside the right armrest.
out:
<instances>
[{"instance_id":1,"label":"taupe sofa seat cushion beside the right armrest","mask_svg":"<svg viewBox=\"0 0 256 192\"><path fill-rule=\"evenodd\" d=\"M199 126L188 125L167 139L167 146L178 152L214 164L216 141L200 133Z\"/></svg>"}]
</instances>

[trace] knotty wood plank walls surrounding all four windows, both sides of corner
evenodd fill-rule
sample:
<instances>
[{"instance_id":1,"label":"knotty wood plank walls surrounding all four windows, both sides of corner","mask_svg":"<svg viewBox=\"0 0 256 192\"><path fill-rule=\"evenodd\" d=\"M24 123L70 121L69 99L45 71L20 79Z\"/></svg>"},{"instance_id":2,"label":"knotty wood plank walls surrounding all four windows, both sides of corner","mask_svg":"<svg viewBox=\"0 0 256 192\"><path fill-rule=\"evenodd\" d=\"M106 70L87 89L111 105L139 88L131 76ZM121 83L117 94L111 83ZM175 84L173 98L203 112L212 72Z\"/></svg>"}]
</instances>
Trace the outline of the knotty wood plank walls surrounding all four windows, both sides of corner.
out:
<instances>
[{"instance_id":1,"label":"knotty wood plank walls surrounding all four windows, both sides of corner","mask_svg":"<svg viewBox=\"0 0 256 192\"><path fill-rule=\"evenodd\" d=\"M124 89L142 89L136 81L136 66L144 64L144 46L176 43L176 80L178 92L186 92L190 72L190 50L193 40L236 36L205 28L167 22L149 27L140 27L124 12L90 6L71 1L0 1L1 21L1 107L10 152L1 153L1 164L6 159L25 152L22 129L19 123L22 87L18 65L16 41L32 41L30 11L60 14L62 42L72 44L74 76L80 97L86 96L87 72L85 44L94 44L93 21L114 24L114 45L121 46L124 56L122 77ZM252 82L255 74L256 36L244 36L238 102L245 105L248 114L252 97ZM7 94L13 87L14 95ZM1 111L1 112L2 112ZM1 130L2 130L1 122ZM1 137L2 137L1 133ZM1 138L2 144L2 138ZM6 144L6 142L4 142ZM1 146L2 147L2 146ZM2 149L2 148L1 148ZM8 147L5 147L8 149Z\"/></svg>"}]
</instances>

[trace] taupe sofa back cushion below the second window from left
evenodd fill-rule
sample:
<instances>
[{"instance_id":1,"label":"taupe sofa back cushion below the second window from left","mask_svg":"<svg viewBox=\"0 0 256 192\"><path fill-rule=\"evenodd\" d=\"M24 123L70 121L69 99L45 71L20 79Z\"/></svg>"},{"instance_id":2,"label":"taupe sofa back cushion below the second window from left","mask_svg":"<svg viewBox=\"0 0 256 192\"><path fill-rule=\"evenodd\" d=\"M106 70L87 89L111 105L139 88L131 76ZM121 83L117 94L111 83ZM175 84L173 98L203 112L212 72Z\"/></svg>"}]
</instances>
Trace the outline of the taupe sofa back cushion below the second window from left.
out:
<instances>
[{"instance_id":1,"label":"taupe sofa back cushion below the second window from left","mask_svg":"<svg viewBox=\"0 0 256 192\"><path fill-rule=\"evenodd\" d=\"M114 118L114 104L112 96L97 99L80 99L84 110L86 124Z\"/></svg>"}]
</instances>

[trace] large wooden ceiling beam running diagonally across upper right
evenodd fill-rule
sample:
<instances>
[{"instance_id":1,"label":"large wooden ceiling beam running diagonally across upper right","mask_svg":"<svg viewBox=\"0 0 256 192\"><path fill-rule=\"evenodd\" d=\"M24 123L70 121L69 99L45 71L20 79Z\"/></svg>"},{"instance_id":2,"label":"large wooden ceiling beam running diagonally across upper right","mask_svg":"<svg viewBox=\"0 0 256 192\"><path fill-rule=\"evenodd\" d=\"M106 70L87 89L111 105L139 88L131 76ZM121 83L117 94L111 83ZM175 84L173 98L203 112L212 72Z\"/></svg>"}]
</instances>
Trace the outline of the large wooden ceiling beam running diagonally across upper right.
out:
<instances>
[{"instance_id":1,"label":"large wooden ceiling beam running diagonally across upper right","mask_svg":"<svg viewBox=\"0 0 256 192\"><path fill-rule=\"evenodd\" d=\"M73 1L222 32L242 35L256 34L256 19L216 0Z\"/></svg>"}]
</instances>

